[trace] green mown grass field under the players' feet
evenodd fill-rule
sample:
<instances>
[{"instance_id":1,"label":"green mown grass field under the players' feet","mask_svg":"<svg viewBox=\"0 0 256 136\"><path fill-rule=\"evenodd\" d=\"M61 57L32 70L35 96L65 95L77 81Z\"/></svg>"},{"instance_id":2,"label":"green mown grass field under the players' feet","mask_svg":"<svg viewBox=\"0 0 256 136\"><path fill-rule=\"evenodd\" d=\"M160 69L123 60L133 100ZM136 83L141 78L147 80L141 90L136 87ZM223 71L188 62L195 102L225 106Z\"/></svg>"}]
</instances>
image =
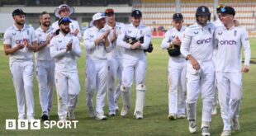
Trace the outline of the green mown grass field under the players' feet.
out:
<instances>
[{"instance_id":1,"label":"green mown grass field under the players' feet","mask_svg":"<svg viewBox=\"0 0 256 136\"><path fill-rule=\"evenodd\" d=\"M12 78L8 67L8 57L2 51L2 41L0 42L0 135L96 135L96 136L142 136L142 135L171 135L171 136L190 136L201 135L201 101L197 103L197 134L189 134L187 120L167 119L168 116L168 81L167 63L168 54L166 50L160 49L162 39L153 39L154 53L148 54L148 68L146 75L146 98L144 119L135 120L133 111L135 108L135 90L131 91L132 107L129 117L121 118L120 112L114 117L108 117L106 121L98 121L89 117L88 108L85 106L85 87L84 87L84 62L85 52L78 59L78 73L81 84L81 92L78 98L76 117L78 122L77 129L43 129L40 130L6 130L6 119L17 119L17 102ZM256 59L256 39L251 39L252 59ZM240 130L233 132L235 136L254 136L256 135L256 65L250 65L249 73L243 75L244 97L240 110ZM34 96L36 106L36 119L40 119L40 103L36 77L34 78ZM106 99L107 100L107 99ZM57 99L54 95L54 107L51 112L51 120L58 120ZM121 100L119 101L121 108ZM220 119L220 108L218 115L212 117L211 135L220 135L223 124ZM106 102L105 113L108 113ZM42 126L43 124L41 124Z\"/></svg>"}]
</instances>

